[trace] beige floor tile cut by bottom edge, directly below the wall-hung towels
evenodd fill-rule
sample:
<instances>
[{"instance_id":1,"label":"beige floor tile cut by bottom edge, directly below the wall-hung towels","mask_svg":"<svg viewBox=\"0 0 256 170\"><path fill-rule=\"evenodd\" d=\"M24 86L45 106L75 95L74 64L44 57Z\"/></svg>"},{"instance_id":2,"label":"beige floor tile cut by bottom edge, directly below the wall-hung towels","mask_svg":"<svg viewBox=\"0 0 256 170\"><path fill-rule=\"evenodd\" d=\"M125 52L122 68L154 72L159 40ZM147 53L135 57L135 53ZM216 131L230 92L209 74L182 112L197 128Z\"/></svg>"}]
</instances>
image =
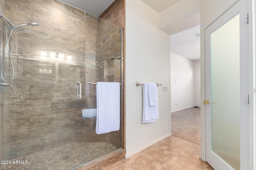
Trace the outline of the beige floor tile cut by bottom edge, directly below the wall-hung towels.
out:
<instances>
[{"instance_id":1,"label":"beige floor tile cut by bottom edge, directly below the wall-hung towels","mask_svg":"<svg viewBox=\"0 0 256 170\"><path fill-rule=\"evenodd\" d=\"M140 155L124 164L129 170L159 170L162 166L144 155Z\"/></svg>"}]
</instances>

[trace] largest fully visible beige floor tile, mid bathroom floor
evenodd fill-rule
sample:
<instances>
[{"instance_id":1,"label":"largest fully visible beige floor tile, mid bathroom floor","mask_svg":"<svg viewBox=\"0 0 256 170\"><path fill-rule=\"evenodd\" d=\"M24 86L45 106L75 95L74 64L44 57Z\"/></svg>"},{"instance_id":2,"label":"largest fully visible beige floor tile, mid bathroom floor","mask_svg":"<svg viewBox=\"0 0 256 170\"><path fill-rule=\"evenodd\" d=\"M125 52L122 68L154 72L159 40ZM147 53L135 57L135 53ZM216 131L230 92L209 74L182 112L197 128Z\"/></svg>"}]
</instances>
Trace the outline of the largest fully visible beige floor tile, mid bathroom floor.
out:
<instances>
[{"instance_id":1,"label":"largest fully visible beige floor tile, mid bathroom floor","mask_svg":"<svg viewBox=\"0 0 256 170\"><path fill-rule=\"evenodd\" d=\"M159 147L150 149L147 152L145 152L143 155L154 160L155 162L161 165L165 165L167 162L169 162L172 158L176 156L176 154L173 154Z\"/></svg>"}]
</instances>

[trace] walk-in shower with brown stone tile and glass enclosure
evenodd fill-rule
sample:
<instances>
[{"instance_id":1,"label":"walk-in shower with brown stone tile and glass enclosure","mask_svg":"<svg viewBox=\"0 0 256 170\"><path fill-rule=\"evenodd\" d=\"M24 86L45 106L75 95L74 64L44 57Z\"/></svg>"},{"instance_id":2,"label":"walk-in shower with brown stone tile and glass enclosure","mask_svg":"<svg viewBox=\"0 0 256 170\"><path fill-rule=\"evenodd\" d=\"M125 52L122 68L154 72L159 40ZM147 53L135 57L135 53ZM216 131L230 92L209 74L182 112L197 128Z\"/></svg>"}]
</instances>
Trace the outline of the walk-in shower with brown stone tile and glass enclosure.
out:
<instances>
[{"instance_id":1,"label":"walk-in shower with brown stone tile and glass enclosure","mask_svg":"<svg viewBox=\"0 0 256 170\"><path fill-rule=\"evenodd\" d=\"M20 162L2 170L68 170L122 148L121 125L98 135L96 117L82 116L96 109L96 86L88 82L123 84L122 28L56 0L5 2L13 25L0 19L0 34L6 27L12 34L1 39L0 83L14 91L0 86L0 151L2 160Z\"/></svg>"}]
</instances>

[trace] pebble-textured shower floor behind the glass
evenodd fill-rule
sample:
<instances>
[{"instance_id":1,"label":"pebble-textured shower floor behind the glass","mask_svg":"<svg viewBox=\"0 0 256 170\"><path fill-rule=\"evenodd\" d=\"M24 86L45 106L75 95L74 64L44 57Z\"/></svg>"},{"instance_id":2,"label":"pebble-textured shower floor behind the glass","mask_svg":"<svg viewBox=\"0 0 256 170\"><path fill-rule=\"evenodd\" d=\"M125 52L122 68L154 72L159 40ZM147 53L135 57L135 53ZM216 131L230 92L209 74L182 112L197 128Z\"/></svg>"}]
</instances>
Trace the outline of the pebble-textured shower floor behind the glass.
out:
<instances>
[{"instance_id":1,"label":"pebble-textured shower floor behind the glass","mask_svg":"<svg viewBox=\"0 0 256 170\"><path fill-rule=\"evenodd\" d=\"M12 159L11 164L4 164L2 170L69 170L116 149L118 148L111 143L68 143L54 149ZM23 162L12 164L16 160L23 160Z\"/></svg>"}]
</instances>

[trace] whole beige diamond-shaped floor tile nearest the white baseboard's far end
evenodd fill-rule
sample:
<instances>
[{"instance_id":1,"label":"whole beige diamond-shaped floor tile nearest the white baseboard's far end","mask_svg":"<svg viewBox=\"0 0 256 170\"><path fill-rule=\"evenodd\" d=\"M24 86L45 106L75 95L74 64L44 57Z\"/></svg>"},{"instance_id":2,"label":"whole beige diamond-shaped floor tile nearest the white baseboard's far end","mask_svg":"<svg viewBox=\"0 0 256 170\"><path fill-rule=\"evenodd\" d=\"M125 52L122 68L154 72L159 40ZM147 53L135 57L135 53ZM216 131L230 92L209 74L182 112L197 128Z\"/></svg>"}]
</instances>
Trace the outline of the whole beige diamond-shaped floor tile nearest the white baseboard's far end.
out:
<instances>
[{"instance_id":1,"label":"whole beige diamond-shaped floor tile nearest the white baseboard's far end","mask_svg":"<svg viewBox=\"0 0 256 170\"><path fill-rule=\"evenodd\" d=\"M169 152L172 152L173 154L179 154L180 152L182 152L182 150L186 147L184 147L183 145L180 145L176 142L173 141L165 141L164 143L161 143L160 145L158 145L159 148L164 149L164 150L168 150Z\"/></svg>"}]
</instances>

